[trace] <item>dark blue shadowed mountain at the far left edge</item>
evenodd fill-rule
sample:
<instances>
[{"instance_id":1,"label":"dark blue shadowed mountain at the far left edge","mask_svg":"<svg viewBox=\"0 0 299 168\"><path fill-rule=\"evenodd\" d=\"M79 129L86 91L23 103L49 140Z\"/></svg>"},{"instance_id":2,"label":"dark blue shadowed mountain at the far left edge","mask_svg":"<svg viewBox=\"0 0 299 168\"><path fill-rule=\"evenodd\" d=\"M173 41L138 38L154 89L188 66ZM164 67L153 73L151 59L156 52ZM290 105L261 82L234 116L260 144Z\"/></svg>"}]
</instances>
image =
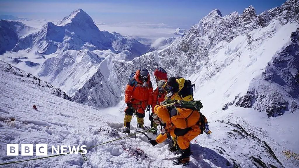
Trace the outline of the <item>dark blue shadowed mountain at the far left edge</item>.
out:
<instances>
[{"instance_id":1,"label":"dark blue shadowed mountain at the far left edge","mask_svg":"<svg viewBox=\"0 0 299 168\"><path fill-rule=\"evenodd\" d=\"M20 37L28 35L36 29L21 22L0 20L0 55L12 50Z\"/></svg>"}]
</instances>

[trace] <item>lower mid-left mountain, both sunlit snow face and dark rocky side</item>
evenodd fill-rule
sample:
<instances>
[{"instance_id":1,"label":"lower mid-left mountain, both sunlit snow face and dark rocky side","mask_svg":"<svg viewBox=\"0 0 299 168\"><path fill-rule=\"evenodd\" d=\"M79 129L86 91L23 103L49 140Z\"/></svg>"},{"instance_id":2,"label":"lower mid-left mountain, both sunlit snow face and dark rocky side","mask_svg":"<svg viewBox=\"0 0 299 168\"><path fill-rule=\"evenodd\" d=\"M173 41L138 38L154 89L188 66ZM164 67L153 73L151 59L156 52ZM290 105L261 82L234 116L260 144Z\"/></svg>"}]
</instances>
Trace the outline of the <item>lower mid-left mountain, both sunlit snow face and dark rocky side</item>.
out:
<instances>
[{"instance_id":1,"label":"lower mid-left mountain, both sunlit snow face and dark rocky side","mask_svg":"<svg viewBox=\"0 0 299 168\"><path fill-rule=\"evenodd\" d=\"M114 106L120 101L120 91L115 90L115 86L99 70L102 60L113 53L96 53L100 56L88 49L64 51L47 59L37 76L64 90L77 103L97 108ZM117 55L127 56L123 53Z\"/></svg>"}]
</instances>

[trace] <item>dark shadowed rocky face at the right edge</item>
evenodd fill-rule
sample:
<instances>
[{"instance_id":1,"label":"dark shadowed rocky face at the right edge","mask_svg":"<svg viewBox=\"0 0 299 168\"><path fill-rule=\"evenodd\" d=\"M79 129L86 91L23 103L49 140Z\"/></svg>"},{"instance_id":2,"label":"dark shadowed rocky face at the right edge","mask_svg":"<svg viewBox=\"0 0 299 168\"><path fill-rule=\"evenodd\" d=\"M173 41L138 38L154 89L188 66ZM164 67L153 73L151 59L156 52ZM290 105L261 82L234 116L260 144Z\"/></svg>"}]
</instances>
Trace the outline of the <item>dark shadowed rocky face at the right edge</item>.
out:
<instances>
[{"instance_id":1,"label":"dark shadowed rocky face at the right edge","mask_svg":"<svg viewBox=\"0 0 299 168\"><path fill-rule=\"evenodd\" d=\"M292 43L273 56L260 77L253 79L237 106L266 111L269 117L299 109L299 28Z\"/></svg>"}]
</instances>

